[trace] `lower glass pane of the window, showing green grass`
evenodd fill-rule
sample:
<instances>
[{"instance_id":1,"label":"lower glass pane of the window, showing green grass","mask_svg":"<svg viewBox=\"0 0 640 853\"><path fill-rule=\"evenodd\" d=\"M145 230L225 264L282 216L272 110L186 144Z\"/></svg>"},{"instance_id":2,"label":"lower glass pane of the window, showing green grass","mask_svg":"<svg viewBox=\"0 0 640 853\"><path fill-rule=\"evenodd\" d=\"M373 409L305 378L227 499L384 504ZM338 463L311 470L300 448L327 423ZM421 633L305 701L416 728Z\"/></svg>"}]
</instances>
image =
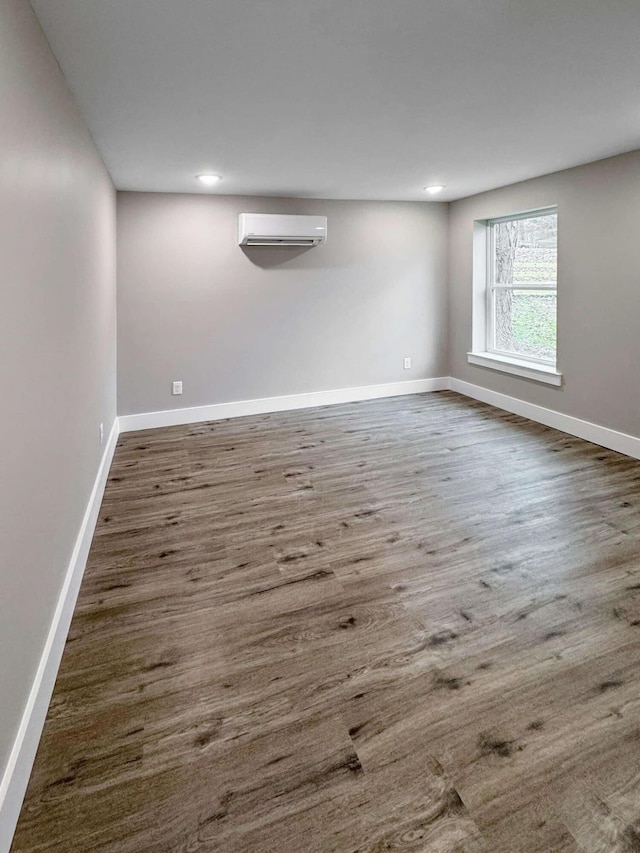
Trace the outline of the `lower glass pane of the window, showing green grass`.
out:
<instances>
[{"instance_id":1,"label":"lower glass pane of the window, showing green grass","mask_svg":"<svg viewBox=\"0 0 640 853\"><path fill-rule=\"evenodd\" d=\"M539 290L494 292L495 349L555 361L555 293Z\"/></svg>"}]
</instances>

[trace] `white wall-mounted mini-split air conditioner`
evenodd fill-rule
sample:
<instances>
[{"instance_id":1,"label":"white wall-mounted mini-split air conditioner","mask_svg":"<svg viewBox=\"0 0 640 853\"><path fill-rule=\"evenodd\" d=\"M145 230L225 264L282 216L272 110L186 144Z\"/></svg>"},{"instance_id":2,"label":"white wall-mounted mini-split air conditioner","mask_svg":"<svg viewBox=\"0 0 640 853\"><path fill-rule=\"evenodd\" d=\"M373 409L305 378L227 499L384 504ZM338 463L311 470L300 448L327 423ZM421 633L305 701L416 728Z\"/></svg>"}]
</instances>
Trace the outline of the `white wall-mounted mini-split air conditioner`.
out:
<instances>
[{"instance_id":1,"label":"white wall-mounted mini-split air conditioner","mask_svg":"<svg viewBox=\"0 0 640 853\"><path fill-rule=\"evenodd\" d=\"M318 246L327 239L326 216L241 213L240 246Z\"/></svg>"}]
</instances>

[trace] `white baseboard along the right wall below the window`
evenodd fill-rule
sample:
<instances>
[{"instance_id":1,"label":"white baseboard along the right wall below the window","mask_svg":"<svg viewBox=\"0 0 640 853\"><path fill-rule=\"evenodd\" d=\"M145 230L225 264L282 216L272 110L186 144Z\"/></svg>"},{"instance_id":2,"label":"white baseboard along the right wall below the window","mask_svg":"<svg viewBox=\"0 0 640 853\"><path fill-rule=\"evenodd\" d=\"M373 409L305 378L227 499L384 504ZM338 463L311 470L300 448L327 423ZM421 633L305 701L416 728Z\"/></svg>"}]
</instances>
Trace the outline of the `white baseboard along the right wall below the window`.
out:
<instances>
[{"instance_id":1,"label":"white baseboard along the right wall below the window","mask_svg":"<svg viewBox=\"0 0 640 853\"><path fill-rule=\"evenodd\" d=\"M472 397L482 403L489 403L491 406L512 412L514 415L520 415L523 418L553 427L561 432L567 432L569 435L574 435L593 444L599 444L601 447L607 447L609 450L616 450L618 453L640 459L640 438L636 436L617 432L614 429L609 429L609 427L603 427L591 423L591 421L583 421L571 415L563 415L553 409L527 403L525 400L509 397L507 394L499 394L497 391L490 391L480 385L472 385L462 379L451 377L449 388L451 391L464 394L465 397Z\"/></svg>"}]
</instances>

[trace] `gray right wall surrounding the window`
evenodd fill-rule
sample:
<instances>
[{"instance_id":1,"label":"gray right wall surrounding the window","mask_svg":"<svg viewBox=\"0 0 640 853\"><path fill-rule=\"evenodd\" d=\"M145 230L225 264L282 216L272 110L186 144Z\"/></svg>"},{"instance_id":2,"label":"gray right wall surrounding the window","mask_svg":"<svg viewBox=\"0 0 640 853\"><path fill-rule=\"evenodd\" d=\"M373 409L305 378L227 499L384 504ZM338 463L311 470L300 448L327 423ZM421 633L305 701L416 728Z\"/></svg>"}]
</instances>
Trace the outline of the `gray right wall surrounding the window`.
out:
<instances>
[{"instance_id":1,"label":"gray right wall surrounding the window","mask_svg":"<svg viewBox=\"0 0 640 853\"><path fill-rule=\"evenodd\" d=\"M474 220L554 204L561 388L475 367L466 359ZM640 152L454 202L449 222L451 375L640 435Z\"/></svg>"}]
</instances>

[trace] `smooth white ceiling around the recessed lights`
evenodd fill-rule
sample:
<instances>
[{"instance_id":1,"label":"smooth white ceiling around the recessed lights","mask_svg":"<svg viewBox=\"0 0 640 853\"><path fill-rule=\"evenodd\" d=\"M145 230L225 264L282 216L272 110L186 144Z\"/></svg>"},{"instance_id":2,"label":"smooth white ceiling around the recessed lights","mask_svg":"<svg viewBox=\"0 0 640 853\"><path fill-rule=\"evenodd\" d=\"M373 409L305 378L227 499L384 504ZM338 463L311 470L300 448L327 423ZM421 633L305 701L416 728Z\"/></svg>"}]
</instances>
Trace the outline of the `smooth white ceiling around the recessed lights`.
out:
<instances>
[{"instance_id":1,"label":"smooth white ceiling around the recessed lights","mask_svg":"<svg viewBox=\"0 0 640 853\"><path fill-rule=\"evenodd\" d=\"M446 201L640 148L640 0L32 5L120 189Z\"/></svg>"}]
</instances>

